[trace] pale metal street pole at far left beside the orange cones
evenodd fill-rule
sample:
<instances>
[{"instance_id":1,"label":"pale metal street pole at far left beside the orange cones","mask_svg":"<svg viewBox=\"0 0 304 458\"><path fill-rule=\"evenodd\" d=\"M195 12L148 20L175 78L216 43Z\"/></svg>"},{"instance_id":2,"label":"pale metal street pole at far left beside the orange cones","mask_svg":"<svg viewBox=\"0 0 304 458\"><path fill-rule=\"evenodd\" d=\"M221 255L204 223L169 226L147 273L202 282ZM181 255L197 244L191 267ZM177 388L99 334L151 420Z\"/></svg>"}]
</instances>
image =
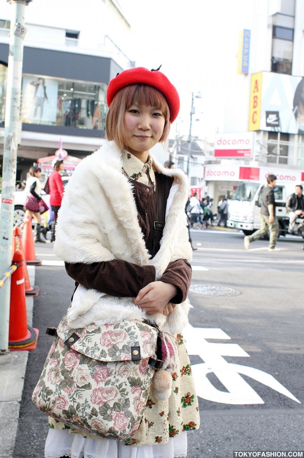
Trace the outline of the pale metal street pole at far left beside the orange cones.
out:
<instances>
[{"instance_id":1,"label":"pale metal street pole at far left beside the orange cones","mask_svg":"<svg viewBox=\"0 0 304 458\"><path fill-rule=\"evenodd\" d=\"M12 264L12 240L14 221L14 197L16 186L18 128L22 80L25 6L31 0L8 0L14 11L11 19L8 81L4 130L2 175L2 201L0 215L0 266L1 274ZM0 289L0 354L8 353L11 281Z\"/></svg>"}]
</instances>

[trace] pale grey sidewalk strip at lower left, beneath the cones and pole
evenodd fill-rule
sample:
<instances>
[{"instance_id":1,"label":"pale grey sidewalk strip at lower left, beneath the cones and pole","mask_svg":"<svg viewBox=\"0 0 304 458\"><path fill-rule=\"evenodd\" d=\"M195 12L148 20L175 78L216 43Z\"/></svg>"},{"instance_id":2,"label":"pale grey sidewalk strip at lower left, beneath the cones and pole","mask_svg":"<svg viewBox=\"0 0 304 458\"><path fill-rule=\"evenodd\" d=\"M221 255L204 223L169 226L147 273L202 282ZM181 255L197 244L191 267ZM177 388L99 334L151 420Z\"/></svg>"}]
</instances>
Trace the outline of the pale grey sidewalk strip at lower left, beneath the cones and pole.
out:
<instances>
[{"instance_id":1,"label":"pale grey sidewalk strip at lower left, beneath the cones and pole","mask_svg":"<svg viewBox=\"0 0 304 458\"><path fill-rule=\"evenodd\" d=\"M27 266L27 271L30 284L34 285L35 267ZM32 326L33 297L26 297L26 312L27 325ZM0 458L14 458L27 358L28 350L0 355Z\"/></svg>"}]
</instances>

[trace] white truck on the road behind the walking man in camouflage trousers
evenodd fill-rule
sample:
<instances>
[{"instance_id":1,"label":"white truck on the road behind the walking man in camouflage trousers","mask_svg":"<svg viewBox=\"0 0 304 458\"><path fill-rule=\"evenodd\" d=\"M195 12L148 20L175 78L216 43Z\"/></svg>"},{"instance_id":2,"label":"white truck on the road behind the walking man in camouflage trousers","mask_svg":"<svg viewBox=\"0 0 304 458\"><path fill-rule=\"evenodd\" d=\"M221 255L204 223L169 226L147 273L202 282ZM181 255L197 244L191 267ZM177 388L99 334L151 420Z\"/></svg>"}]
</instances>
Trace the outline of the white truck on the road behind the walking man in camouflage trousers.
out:
<instances>
[{"instance_id":1,"label":"white truck on the road behind the walking man in camouflage trousers","mask_svg":"<svg viewBox=\"0 0 304 458\"><path fill-rule=\"evenodd\" d=\"M277 182L275 191L276 217L279 221L280 235L285 235L288 231L288 212L286 201L290 194L294 192L294 184L280 184ZM227 227L240 229L245 235L250 235L260 228L260 210L262 191L267 183L244 182L241 183L234 192L228 205ZM302 219L297 219L297 227L303 223ZM304 238L303 232L299 227L299 235Z\"/></svg>"}]
</instances>

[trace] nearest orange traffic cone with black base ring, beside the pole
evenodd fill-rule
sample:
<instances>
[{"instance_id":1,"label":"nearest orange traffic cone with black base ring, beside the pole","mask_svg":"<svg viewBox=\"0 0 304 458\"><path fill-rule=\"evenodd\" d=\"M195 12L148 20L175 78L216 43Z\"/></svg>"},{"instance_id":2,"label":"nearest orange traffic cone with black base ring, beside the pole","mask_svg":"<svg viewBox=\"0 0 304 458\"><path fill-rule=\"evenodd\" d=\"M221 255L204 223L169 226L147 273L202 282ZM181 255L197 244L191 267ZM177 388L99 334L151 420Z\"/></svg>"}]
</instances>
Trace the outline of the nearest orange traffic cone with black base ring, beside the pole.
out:
<instances>
[{"instance_id":1,"label":"nearest orange traffic cone with black base ring, beside the pole","mask_svg":"<svg viewBox=\"0 0 304 458\"><path fill-rule=\"evenodd\" d=\"M22 258L22 253L17 246L13 256L13 263L18 265L18 269L11 278L9 348L11 350L34 350L37 345L39 330L27 326L22 268L24 259Z\"/></svg>"}]
</instances>

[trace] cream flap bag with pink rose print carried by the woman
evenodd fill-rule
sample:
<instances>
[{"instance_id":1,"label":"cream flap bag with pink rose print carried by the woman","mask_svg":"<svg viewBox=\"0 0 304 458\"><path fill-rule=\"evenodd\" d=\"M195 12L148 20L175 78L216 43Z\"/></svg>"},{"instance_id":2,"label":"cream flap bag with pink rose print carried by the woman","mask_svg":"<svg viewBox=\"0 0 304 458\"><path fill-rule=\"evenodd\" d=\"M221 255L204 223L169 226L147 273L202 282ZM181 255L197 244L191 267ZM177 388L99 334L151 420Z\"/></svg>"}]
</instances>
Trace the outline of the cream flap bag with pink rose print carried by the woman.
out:
<instances>
[{"instance_id":1,"label":"cream flap bag with pink rose print carried by the woman","mask_svg":"<svg viewBox=\"0 0 304 458\"><path fill-rule=\"evenodd\" d=\"M66 314L51 346L33 403L64 424L123 441L139 428L159 343L158 329L136 320L81 329Z\"/></svg>"}]
</instances>

